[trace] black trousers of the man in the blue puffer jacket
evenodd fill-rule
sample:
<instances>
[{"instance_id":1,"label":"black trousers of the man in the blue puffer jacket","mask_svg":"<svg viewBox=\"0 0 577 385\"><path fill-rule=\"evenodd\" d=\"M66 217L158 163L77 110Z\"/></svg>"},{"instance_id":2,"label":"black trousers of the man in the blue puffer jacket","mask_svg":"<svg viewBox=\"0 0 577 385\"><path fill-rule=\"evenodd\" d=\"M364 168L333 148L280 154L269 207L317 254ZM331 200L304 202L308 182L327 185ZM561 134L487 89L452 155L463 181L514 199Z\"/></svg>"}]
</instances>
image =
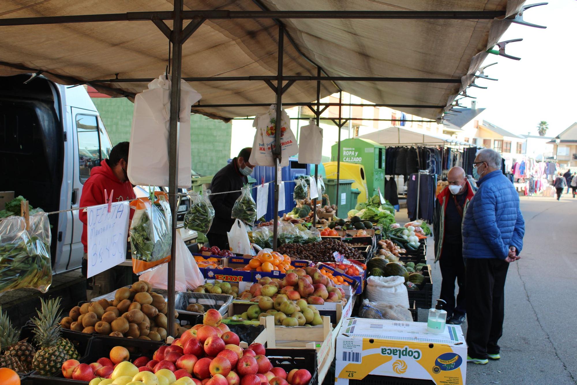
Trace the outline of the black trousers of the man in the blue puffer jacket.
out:
<instances>
[{"instance_id":1,"label":"black trousers of the man in the blue puffer jacket","mask_svg":"<svg viewBox=\"0 0 577 385\"><path fill-rule=\"evenodd\" d=\"M499 353L509 264L496 258L467 258L465 264L468 354L485 359L488 353Z\"/></svg>"}]
</instances>

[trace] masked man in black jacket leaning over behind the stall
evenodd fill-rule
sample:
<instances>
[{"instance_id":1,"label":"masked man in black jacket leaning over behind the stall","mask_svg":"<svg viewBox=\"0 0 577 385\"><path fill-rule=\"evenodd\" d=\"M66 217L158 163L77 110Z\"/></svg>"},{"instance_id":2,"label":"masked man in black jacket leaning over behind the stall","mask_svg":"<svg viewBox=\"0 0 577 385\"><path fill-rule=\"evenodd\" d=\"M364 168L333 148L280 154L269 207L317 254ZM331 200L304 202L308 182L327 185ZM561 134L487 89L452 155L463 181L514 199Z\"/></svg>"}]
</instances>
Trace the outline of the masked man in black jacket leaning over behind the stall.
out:
<instances>
[{"instance_id":1,"label":"masked man in black jacket leaning over behind the stall","mask_svg":"<svg viewBox=\"0 0 577 385\"><path fill-rule=\"evenodd\" d=\"M212 178L211 193L241 190L242 186L248 183L247 176L252 173L254 168L249 163L251 150L250 147L242 149L236 158L216 173ZM210 196L212 206L215 209L215 219L212 221L211 229L207 234L211 246L229 249L226 233L234 224L234 219L231 218L230 214L233 211L234 202L240 196L241 193L239 192Z\"/></svg>"}]
</instances>

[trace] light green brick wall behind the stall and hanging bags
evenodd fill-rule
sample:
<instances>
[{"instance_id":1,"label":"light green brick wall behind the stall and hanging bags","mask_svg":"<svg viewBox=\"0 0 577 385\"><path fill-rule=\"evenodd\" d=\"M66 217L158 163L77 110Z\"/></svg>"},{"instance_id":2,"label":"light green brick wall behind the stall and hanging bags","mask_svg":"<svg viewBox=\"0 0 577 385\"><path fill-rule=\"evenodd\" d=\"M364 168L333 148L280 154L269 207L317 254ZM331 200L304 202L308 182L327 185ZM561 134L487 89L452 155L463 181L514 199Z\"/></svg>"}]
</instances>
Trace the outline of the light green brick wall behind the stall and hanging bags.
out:
<instances>
[{"instance_id":1,"label":"light green brick wall behind the stall and hanging bags","mask_svg":"<svg viewBox=\"0 0 577 385\"><path fill-rule=\"evenodd\" d=\"M113 145L130 139L134 105L126 98L92 98ZM226 165L230 155L233 125L203 115L190 116L192 169L214 175Z\"/></svg>"}]
</instances>

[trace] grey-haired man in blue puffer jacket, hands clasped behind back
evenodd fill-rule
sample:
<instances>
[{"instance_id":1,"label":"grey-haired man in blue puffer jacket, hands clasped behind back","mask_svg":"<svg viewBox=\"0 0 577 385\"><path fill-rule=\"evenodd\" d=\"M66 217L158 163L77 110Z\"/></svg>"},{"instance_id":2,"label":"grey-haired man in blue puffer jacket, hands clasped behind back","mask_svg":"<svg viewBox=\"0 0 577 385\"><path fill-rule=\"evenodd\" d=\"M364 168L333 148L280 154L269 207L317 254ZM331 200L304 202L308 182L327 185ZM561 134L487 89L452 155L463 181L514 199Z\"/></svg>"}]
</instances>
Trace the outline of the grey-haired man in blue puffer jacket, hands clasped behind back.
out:
<instances>
[{"instance_id":1,"label":"grey-haired man in blue puffer jacket, hands clasped behind back","mask_svg":"<svg viewBox=\"0 0 577 385\"><path fill-rule=\"evenodd\" d=\"M463 258L467 282L468 362L499 360L503 335L505 277L523 248L525 223L519 194L501 172L501 156L477 153L473 176L479 189L463 216Z\"/></svg>"}]
</instances>

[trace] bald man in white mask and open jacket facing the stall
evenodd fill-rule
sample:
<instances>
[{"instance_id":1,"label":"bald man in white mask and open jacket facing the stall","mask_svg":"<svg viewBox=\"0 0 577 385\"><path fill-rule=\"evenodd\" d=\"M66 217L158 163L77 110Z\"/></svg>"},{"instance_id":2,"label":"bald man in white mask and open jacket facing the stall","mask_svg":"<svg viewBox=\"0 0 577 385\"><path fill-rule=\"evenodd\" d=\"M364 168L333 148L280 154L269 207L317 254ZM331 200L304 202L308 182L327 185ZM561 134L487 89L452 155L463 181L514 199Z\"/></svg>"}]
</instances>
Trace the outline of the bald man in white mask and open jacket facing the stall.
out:
<instances>
[{"instance_id":1,"label":"bald man in white mask and open jacket facing the stall","mask_svg":"<svg viewBox=\"0 0 577 385\"><path fill-rule=\"evenodd\" d=\"M447 323L460 325L465 320L465 264L463 261L463 238L461 223L463 214L473 198L465 171L453 167L447 174L448 186L437 195L433 212L433 236L435 262L439 261L441 269L440 299L446 302ZM455 301L455 279L459 293Z\"/></svg>"}]
</instances>

